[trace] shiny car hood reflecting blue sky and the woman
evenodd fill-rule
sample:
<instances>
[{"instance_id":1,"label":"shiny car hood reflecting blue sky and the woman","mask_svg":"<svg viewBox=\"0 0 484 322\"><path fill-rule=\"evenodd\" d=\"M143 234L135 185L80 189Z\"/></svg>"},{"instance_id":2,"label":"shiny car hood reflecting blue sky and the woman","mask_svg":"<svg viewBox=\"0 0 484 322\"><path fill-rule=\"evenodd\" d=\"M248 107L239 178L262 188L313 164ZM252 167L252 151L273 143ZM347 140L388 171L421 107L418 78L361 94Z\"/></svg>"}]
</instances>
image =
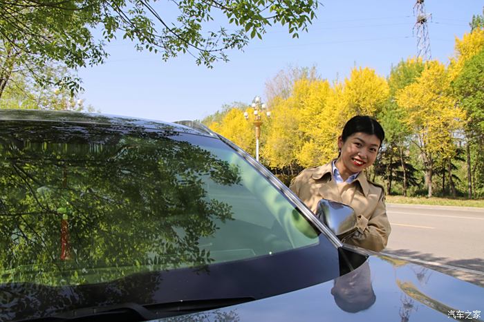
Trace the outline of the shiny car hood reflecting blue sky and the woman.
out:
<instances>
[{"instance_id":1,"label":"shiny car hood reflecting blue sky and the woman","mask_svg":"<svg viewBox=\"0 0 484 322\"><path fill-rule=\"evenodd\" d=\"M301 272L304 274L304 272ZM390 256L332 281L160 321L483 321L484 287Z\"/></svg>"}]
</instances>

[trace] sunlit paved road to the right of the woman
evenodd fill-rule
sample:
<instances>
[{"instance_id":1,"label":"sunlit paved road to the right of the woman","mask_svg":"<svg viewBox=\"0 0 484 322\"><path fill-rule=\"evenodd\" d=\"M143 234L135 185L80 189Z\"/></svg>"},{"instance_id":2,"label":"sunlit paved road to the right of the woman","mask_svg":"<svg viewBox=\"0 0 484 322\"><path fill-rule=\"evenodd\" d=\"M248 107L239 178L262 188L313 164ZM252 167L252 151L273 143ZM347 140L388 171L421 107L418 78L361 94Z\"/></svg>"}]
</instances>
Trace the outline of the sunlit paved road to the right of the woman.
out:
<instances>
[{"instance_id":1,"label":"sunlit paved road to the right of the woman","mask_svg":"<svg viewBox=\"0 0 484 322\"><path fill-rule=\"evenodd\" d=\"M484 208L387 204L384 252L484 287Z\"/></svg>"}]
</instances>

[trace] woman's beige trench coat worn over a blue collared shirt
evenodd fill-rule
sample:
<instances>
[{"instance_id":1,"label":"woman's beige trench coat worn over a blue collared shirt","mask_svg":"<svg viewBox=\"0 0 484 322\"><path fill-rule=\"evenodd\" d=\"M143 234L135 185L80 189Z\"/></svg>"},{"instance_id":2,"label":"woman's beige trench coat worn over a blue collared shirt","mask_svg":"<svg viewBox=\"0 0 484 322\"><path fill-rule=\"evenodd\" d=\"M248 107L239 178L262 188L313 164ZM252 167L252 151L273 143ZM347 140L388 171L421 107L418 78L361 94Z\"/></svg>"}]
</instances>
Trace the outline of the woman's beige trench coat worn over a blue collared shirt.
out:
<instances>
[{"instance_id":1,"label":"woman's beige trench coat worn over a blue collared shirt","mask_svg":"<svg viewBox=\"0 0 484 322\"><path fill-rule=\"evenodd\" d=\"M292 179L290 189L313 213L322 198L351 206L355 209L358 229L344 242L380 252L387 246L391 232L383 187L366 180L364 173L360 173L351 184L337 184L332 170L331 162L305 169Z\"/></svg>"}]
</instances>

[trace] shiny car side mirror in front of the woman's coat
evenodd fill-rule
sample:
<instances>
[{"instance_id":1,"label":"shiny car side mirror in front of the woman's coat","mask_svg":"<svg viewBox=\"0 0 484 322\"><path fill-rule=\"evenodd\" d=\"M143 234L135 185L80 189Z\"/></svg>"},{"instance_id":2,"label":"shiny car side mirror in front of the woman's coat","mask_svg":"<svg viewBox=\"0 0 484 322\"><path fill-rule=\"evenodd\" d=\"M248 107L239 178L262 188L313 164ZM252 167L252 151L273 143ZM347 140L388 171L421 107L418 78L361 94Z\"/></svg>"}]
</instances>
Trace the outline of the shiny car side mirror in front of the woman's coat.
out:
<instances>
[{"instance_id":1,"label":"shiny car side mirror in front of the woman's coat","mask_svg":"<svg viewBox=\"0 0 484 322\"><path fill-rule=\"evenodd\" d=\"M357 229L357 219L353 208L342 203L322 199L317 204L316 217L323 222L337 238L350 236Z\"/></svg>"}]
</instances>

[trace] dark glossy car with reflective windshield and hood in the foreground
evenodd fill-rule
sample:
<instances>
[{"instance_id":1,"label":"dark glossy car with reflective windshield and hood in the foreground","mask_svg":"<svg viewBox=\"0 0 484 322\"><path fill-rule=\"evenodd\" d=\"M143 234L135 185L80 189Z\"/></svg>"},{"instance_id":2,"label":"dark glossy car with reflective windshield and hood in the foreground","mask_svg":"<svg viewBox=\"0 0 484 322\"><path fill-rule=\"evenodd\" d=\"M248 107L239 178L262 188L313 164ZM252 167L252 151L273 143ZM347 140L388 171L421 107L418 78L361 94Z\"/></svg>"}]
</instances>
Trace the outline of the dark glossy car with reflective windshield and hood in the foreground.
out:
<instances>
[{"instance_id":1,"label":"dark glossy car with reflective windshield and hood in the foreground","mask_svg":"<svg viewBox=\"0 0 484 322\"><path fill-rule=\"evenodd\" d=\"M482 321L197 122L3 110L0 187L0 321Z\"/></svg>"}]
</instances>

